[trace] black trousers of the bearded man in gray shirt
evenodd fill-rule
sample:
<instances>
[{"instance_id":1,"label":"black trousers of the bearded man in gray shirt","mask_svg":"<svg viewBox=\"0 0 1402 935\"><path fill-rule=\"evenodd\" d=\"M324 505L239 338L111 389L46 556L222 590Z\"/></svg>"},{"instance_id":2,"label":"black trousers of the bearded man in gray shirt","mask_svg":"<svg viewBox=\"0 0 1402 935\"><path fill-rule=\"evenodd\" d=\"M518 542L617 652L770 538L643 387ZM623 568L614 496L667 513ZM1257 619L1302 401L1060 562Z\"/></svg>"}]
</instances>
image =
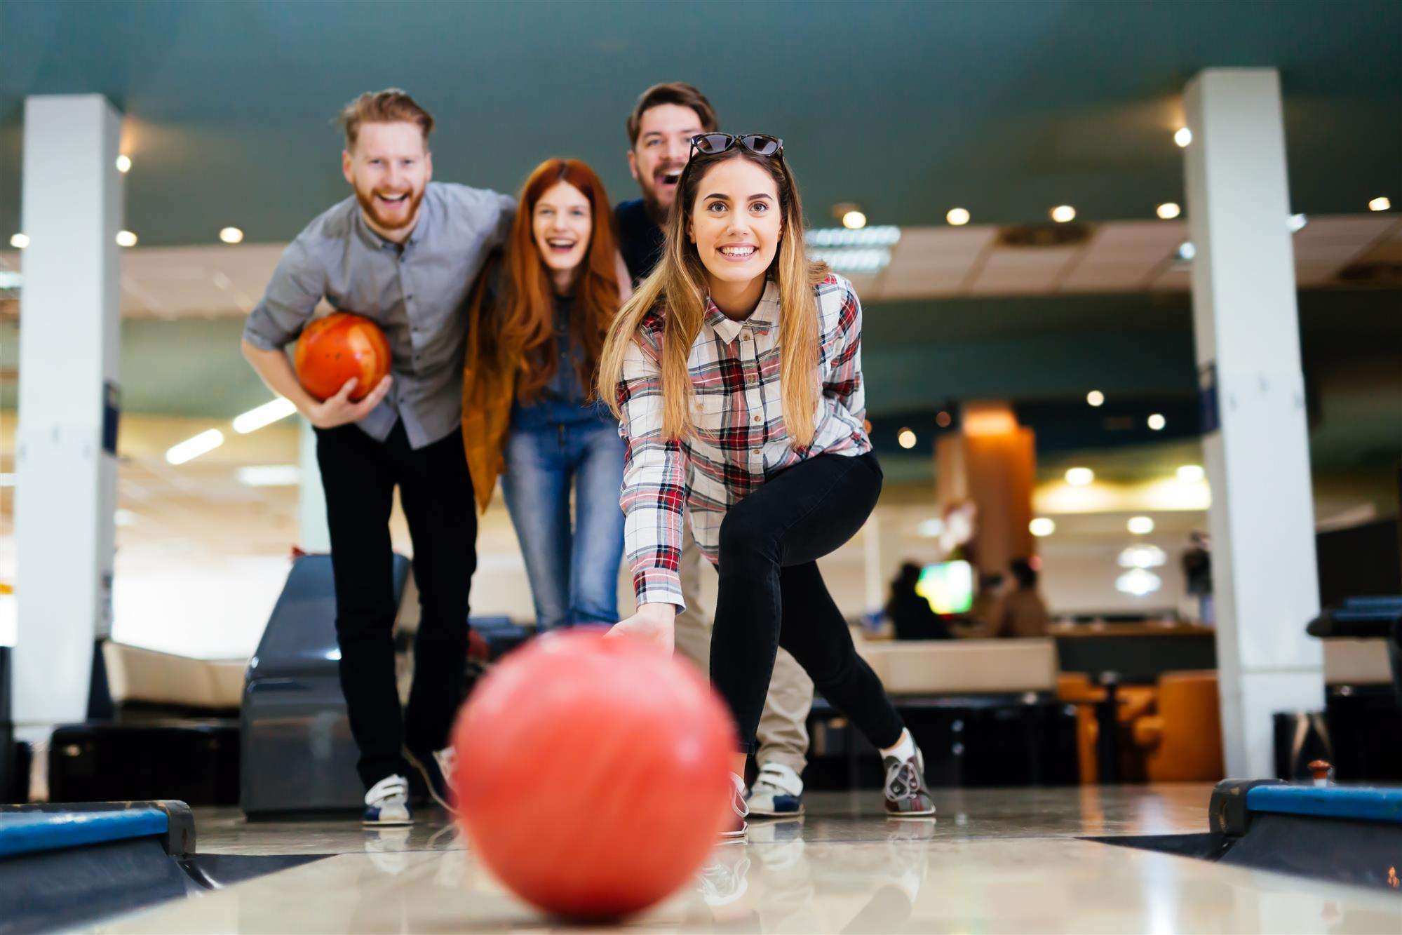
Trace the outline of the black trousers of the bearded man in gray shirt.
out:
<instances>
[{"instance_id":1,"label":"black trousers of the bearded man in gray shirt","mask_svg":"<svg viewBox=\"0 0 1402 935\"><path fill-rule=\"evenodd\" d=\"M461 432L415 451L402 422L383 443L355 425L317 429L317 464L331 527L341 690L369 789L387 775L408 775L404 746L418 753L447 746L463 704L467 593L477 568L472 479ZM390 545L395 486L414 540L421 607L414 687L402 719Z\"/></svg>"}]
</instances>

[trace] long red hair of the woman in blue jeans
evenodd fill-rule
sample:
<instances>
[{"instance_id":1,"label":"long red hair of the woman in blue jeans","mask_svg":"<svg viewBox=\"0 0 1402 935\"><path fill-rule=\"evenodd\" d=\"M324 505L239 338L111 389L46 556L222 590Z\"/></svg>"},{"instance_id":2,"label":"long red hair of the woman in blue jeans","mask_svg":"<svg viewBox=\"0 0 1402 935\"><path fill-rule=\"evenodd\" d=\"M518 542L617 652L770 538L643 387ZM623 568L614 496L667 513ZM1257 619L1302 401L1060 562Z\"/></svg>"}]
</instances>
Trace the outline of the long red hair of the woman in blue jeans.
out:
<instances>
[{"instance_id":1,"label":"long red hair of the woman in blue jeans","mask_svg":"<svg viewBox=\"0 0 1402 935\"><path fill-rule=\"evenodd\" d=\"M571 336L583 350L579 383L594 398L599 357L604 336L618 311L617 238L608 193L592 168L576 158L551 158L536 167L522 186L502 259L501 294L491 310L492 325L482 329L482 363L499 371L517 369L516 397L530 401L555 376L559 349L555 346L555 293L545 262L536 247L531 219L536 202L557 182L569 182L589 199L593 230L589 250L575 279Z\"/></svg>"}]
</instances>

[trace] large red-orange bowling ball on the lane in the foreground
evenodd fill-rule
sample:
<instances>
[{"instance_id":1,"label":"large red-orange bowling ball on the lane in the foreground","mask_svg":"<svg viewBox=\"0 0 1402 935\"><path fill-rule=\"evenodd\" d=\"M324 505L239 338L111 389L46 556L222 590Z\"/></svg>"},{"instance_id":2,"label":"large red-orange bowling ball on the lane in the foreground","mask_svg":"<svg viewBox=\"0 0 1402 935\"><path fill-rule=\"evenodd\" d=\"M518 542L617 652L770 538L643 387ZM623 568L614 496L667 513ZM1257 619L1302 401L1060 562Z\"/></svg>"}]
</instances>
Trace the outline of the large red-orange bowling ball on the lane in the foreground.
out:
<instances>
[{"instance_id":1,"label":"large red-orange bowling ball on the lane in the foreground","mask_svg":"<svg viewBox=\"0 0 1402 935\"><path fill-rule=\"evenodd\" d=\"M730 819L729 711L684 660L600 631L509 655L454 728L471 851L522 899L579 920L686 883Z\"/></svg>"}]
</instances>

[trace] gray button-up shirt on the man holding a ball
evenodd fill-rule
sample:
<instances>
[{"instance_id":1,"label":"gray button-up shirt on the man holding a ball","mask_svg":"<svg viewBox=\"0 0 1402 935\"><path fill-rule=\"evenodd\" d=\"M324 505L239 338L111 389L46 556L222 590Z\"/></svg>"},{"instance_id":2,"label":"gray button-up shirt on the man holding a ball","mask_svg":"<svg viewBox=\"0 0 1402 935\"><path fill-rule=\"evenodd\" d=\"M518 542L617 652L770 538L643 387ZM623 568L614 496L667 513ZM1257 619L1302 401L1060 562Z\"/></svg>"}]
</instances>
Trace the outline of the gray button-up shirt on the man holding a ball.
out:
<instances>
[{"instance_id":1,"label":"gray button-up shirt on the man holding a ball","mask_svg":"<svg viewBox=\"0 0 1402 935\"><path fill-rule=\"evenodd\" d=\"M244 339L282 350L322 297L373 318L390 342L394 383L359 425L384 442L404 419L409 446L450 435L463 418L467 294L492 248L506 240L516 202L465 185L429 182L414 233L402 244L365 223L356 199L325 212L287 245Z\"/></svg>"}]
</instances>

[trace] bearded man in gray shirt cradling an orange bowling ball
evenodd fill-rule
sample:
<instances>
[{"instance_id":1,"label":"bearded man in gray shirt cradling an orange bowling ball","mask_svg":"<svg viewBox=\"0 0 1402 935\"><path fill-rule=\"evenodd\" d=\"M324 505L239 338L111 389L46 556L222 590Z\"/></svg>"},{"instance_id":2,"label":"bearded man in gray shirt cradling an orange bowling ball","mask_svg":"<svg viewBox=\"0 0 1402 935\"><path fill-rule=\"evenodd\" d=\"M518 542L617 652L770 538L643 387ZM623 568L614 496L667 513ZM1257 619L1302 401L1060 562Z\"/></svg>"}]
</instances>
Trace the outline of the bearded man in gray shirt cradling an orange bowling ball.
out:
<instances>
[{"instance_id":1,"label":"bearded man in gray shirt cradling an orange bowling ball","mask_svg":"<svg viewBox=\"0 0 1402 935\"><path fill-rule=\"evenodd\" d=\"M341 114L341 168L355 191L283 252L250 313L243 350L317 435L336 590L341 687L366 824L409 824L408 767L447 802L449 732L463 701L468 585L477 514L463 450L464 303L484 259L510 230L515 202L432 182L433 118L404 91L362 94ZM321 300L376 321L390 376L360 401L355 380L311 397L286 348ZM394 678L390 510L394 488L414 540L421 620L414 688L401 718Z\"/></svg>"}]
</instances>

